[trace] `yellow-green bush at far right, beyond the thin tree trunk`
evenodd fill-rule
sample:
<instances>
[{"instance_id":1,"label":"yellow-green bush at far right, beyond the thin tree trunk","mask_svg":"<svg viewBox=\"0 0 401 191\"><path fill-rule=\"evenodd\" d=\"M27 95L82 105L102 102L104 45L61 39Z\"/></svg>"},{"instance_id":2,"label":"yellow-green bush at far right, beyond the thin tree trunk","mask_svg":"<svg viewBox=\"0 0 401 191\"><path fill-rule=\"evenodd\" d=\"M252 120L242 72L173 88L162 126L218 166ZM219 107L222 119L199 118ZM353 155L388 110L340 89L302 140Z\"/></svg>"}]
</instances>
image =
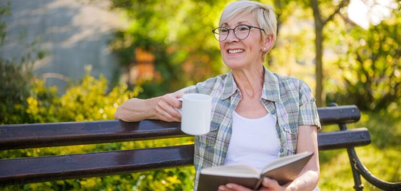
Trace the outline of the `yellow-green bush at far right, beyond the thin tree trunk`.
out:
<instances>
[{"instance_id":1,"label":"yellow-green bush at far right, beyond the thin tree trunk","mask_svg":"<svg viewBox=\"0 0 401 191\"><path fill-rule=\"evenodd\" d=\"M393 17L368 30L352 27L344 34L347 49L337 64L345 87L339 86L331 99L336 97L344 104L356 104L361 110L384 109L392 102L401 103L399 18L400 11L394 10Z\"/></svg>"}]
</instances>

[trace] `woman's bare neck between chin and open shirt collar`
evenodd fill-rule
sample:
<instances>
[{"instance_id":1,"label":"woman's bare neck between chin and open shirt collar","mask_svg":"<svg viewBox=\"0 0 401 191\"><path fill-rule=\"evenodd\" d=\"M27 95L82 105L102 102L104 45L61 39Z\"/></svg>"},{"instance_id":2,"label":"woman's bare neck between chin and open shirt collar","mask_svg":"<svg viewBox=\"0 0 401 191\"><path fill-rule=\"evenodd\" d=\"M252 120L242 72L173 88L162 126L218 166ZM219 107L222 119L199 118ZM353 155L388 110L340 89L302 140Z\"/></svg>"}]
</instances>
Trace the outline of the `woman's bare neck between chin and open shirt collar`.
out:
<instances>
[{"instance_id":1,"label":"woman's bare neck between chin and open shirt collar","mask_svg":"<svg viewBox=\"0 0 401 191\"><path fill-rule=\"evenodd\" d=\"M261 96L264 82L262 65L246 69L233 69L232 74L242 97L259 98Z\"/></svg>"}]
</instances>

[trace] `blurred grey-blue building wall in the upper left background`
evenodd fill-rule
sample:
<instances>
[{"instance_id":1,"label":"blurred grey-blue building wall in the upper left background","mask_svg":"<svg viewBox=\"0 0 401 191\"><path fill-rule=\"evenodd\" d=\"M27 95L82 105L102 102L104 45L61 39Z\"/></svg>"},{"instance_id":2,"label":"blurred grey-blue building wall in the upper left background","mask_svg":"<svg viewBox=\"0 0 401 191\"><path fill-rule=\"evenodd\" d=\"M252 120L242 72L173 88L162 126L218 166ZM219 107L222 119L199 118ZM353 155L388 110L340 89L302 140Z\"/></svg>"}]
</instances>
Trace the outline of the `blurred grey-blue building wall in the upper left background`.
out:
<instances>
[{"instance_id":1,"label":"blurred grey-blue building wall in the upper left background","mask_svg":"<svg viewBox=\"0 0 401 191\"><path fill-rule=\"evenodd\" d=\"M26 44L39 39L38 45L49 55L35 62L34 73L44 76L47 85L62 92L66 79L82 78L85 65L92 66L93 76L103 74L110 80L119 64L107 43L113 31L123 27L123 19L104 2L89 1L11 0L11 15L1 18L7 24L1 56L18 58L26 54Z\"/></svg>"}]
</instances>

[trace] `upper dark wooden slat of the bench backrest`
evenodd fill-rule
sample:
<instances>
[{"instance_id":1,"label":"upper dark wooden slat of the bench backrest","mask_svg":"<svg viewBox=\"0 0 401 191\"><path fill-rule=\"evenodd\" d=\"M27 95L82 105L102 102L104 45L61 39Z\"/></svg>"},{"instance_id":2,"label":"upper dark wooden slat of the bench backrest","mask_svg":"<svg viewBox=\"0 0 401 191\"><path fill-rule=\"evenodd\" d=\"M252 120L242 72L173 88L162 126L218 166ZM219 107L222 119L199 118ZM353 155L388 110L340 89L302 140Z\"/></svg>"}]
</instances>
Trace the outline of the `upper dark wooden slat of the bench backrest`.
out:
<instances>
[{"instance_id":1,"label":"upper dark wooden slat of the bench backrest","mask_svg":"<svg viewBox=\"0 0 401 191\"><path fill-rule=\"evenodd\" d=\"M357 106L318 108L321 125L357 122ZM85 145L189 136L180 123L118 120L0 125L0 150Z\"/></svg>"}]
</instances>

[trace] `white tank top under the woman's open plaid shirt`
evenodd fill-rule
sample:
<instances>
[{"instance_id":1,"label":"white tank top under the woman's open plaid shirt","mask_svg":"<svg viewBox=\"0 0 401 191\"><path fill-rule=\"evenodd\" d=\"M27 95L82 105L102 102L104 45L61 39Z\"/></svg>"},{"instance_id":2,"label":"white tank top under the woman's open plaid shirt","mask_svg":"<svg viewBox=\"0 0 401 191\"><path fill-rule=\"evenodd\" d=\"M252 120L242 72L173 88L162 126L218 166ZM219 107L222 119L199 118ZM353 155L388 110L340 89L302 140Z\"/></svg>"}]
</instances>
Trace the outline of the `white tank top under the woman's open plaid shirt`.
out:
<instances>
[{"instance_id":1,"label":"white tank top under the woman's open plaid shirt","mask_svg":"<svg viewBox=\"0 0 401 191\"><path fill-rule=\"evenodd\" d=\"M246 164L259 171L279 157L280 141L276 118L267 114L257 119L233 112L232 134L224 165Z\"/></svg>"}]
</instances>

